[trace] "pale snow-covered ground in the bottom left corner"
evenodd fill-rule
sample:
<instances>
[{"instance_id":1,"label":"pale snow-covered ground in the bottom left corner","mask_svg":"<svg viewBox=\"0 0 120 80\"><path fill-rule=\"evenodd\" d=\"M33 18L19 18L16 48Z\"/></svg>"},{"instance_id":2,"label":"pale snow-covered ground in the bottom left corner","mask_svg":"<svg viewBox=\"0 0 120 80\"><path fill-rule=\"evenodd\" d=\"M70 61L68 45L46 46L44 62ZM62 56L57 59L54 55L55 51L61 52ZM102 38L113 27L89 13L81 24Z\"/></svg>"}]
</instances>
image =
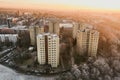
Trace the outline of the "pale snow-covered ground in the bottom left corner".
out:
<instances>
[{"instance_id":1,"label":"pale snow-covered ground in the bottom left corner","mask_svg":"<svg viewBox=\"0 0 120 80\"><path fill-rule=\"evenodd\" d=\"M55 77L37 77L16 73L14 70L0 65L0 80L55 80Z\"/></svg>"}]
</instances>

